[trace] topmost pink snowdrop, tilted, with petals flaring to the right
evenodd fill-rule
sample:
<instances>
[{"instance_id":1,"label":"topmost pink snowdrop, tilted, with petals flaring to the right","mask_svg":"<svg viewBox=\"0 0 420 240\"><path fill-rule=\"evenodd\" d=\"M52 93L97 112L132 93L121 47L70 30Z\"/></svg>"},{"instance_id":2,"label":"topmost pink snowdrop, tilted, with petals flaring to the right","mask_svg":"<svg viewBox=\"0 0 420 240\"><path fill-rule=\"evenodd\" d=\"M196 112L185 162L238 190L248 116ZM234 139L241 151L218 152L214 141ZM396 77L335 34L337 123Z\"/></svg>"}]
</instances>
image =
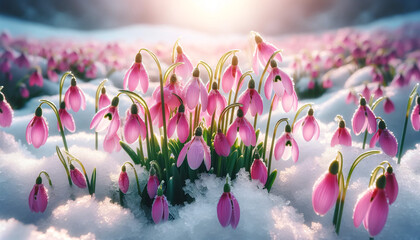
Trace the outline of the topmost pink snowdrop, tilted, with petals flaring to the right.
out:
<instances>
[{"instance_id":1,"label":"topmost pink snowdrop, tilted, with petals flaring to the right","mask_svg":"<svg viewBox=\"0 0 420 240\"><path fill-rule=\"evenodd\" d=\"M254 57L252 60L252 70L255 74L258 75L259 64L265 66L271 55L273 55L273 53L278 49L273 44L265 42L258 34L255 34L255 42L257 43L257 47L255 48ZM279 62L283 61L281 53L278 53L274 59Z\"/></svg>"}]
</instances>

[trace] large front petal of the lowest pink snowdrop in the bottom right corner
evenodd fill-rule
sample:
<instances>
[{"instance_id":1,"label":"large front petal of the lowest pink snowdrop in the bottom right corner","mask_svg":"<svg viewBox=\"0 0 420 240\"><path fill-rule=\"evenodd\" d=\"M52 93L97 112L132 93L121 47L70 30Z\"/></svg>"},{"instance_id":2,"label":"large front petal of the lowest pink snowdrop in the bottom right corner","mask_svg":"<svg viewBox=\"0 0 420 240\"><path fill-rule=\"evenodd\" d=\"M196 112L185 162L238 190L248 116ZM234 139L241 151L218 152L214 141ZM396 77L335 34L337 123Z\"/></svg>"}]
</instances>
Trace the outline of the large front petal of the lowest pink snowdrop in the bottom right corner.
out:
<instances>
[{"instance_id":1,"label":"large front petal of the lowest pink snowdrop in the bottom right corner","mask_svg":"<svg viewBox=\"0 0 420 240\"><path fill-rule=\"evenodd\" d=\"M382 231L388 218L388 210L385 191L379 189L366 213L367 230L370 236L374 237Z\"/></svg>"}]
</instances>

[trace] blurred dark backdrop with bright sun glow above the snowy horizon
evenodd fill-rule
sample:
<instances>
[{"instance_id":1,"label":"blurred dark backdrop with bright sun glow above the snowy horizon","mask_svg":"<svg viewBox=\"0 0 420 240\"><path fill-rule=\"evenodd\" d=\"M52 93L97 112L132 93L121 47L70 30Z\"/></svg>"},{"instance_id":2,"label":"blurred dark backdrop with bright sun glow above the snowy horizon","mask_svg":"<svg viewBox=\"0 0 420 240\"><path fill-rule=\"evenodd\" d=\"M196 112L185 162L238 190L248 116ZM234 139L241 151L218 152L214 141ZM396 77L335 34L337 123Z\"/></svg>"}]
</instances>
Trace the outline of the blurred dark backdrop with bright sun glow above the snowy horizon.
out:
<instances>
[{"instance_id":1,"label":"blurred dark backdrop with bright sun glow above the snowy horizon","mask_svg":"<svg viewBox=\"0 0 420 240\"><path fill-rule=\"evenodd\" d=\"M365 24L420 10L419 0L2 0L0 14L62 28L157 24L277 35Z\"/></svg>"}]
</instances>

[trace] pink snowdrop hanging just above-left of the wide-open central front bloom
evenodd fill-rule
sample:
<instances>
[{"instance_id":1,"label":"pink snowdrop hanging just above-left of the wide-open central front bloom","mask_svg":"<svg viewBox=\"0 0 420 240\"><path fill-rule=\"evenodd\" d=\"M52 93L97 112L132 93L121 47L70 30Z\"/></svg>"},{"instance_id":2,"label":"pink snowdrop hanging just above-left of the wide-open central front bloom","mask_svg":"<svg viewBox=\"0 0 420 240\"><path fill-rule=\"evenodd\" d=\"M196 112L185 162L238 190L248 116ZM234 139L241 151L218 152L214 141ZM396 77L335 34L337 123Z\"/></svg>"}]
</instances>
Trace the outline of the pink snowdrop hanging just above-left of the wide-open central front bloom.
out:
<instances>
[{"instance_id":1,"label":"pink snowdrop hanging just above-left of the wide-open central front bloom","mask_svg":"<svg viewBox=\"0 0 420 240\"><path fill-rule=\"evenodd\" d=\"M168 129L167 129L169 138L172 137L172 135L174 134L175 128L176 128L176 133L178 135L179 141L182 143L187 141L190 131L189 131L188 120L185 115L185 106L182 103L181 105L179 105L178 113L175 114L175 116L173 116L171 120L169 120Z\"/></svg>"}]
</instances>

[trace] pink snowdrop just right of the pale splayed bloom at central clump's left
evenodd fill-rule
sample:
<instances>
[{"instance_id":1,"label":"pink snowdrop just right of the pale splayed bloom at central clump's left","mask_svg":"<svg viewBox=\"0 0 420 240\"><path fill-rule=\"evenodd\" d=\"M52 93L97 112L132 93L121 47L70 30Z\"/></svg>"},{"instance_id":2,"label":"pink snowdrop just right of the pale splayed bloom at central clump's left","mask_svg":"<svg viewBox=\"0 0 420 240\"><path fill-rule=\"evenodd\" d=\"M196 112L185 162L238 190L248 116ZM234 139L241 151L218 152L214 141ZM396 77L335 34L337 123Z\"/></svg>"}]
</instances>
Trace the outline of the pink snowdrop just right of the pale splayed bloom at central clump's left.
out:
<instances>
[{"instance_id":1,"label":"pink snowdrop just right of the pale splayed bloom at central clump's left","mask_svg":"<svg viewBox=\"0 0 420 240\"><path fill-rule=\"evenodd\" d=\"M134 143L139 137L146 139L146 124L138 114L137 104L132 104L131 109L127 110L126 122L124 125L124 136L128 143Z\"/></svg>"}]
</instances>

